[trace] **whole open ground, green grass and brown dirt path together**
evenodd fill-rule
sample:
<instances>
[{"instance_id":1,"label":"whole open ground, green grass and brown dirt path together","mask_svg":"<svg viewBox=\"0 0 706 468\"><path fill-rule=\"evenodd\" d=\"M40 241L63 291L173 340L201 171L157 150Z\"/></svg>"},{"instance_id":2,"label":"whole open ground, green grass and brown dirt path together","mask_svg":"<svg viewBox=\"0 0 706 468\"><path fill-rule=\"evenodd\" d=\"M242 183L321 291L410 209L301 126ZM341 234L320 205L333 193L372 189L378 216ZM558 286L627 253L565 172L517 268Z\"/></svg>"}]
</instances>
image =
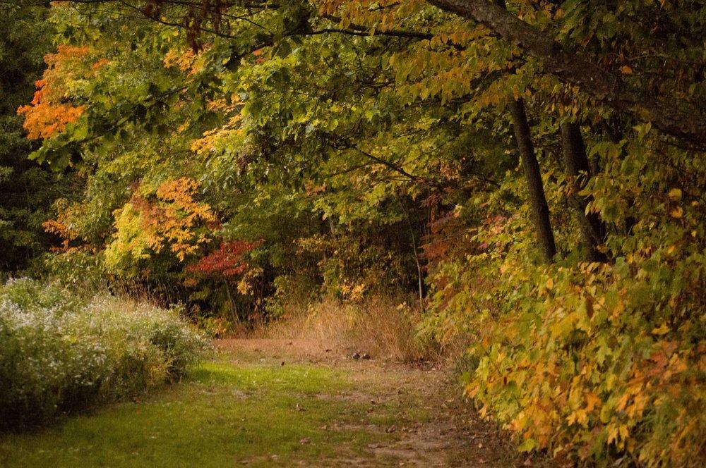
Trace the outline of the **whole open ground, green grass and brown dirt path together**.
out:
<instances>
[{"instance_id":1,"label":"whole open ground, green grass and brown dirt path together","mask_svg":"<svg viewBox=\"0 0 706 468\"><path fill-rule=\"evenodd\" d=\"M534 464L462 402L450 373L310 340L218 340L144 400L0 436L3 467Z\"/></svg>"}]
</instances>

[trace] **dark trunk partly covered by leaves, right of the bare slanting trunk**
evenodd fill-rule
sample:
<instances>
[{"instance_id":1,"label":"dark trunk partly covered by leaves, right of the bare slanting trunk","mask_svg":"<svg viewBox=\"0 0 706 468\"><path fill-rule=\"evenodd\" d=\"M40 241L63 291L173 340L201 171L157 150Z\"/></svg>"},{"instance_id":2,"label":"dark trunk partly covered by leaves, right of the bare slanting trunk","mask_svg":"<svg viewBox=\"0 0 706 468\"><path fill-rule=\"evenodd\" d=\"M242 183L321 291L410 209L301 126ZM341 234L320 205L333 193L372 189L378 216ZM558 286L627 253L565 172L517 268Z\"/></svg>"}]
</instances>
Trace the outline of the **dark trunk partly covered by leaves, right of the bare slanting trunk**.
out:
<instances>
[{"instance_id":1,"label":"dark trunk partly covered by leaves, right of the bare slanting trunk","mask_svg":"<svg viewBox=\"0 0 706 468\"><path fill-rule=\"evenodd\" d=\"M561 143L566 174L573 179L570 202L576 209L581 237L588 250L587 260L606 261L606 254L599 250L599 246L606 239L606 226L598 214L586 214L586 207L592 197L579 195L591 176L591 166L578 123L563 123L561 125Z\"/></svg>"}]
</instances>

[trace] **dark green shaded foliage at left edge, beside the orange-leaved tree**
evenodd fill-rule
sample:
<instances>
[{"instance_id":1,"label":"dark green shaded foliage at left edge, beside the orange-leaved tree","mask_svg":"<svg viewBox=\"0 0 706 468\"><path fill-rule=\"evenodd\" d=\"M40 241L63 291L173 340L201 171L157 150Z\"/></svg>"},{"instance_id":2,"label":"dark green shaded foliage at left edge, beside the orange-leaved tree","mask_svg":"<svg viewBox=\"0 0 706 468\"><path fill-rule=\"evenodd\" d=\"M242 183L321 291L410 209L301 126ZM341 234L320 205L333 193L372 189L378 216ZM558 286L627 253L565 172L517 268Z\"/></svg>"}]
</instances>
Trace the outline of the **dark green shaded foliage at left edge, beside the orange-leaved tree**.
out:
<instances>
[{"instance_id":1,"label":"dark green shaded foliage at left edge, beside the orange-leaved tree","mask_svg":"<svg viewBox=\"0 0 706 468\"><path fill-rule=\"evenodd\" d=\"M47 8L0 4L0 271L30 266L46 252L52 236L42 223L51 217L56 197L71 187L70 177L59 177L28 160L37 142L25 138L19 106L28 104L35 80L42 76L42 57L52 49Z\"/></svg>"}]
</instances>

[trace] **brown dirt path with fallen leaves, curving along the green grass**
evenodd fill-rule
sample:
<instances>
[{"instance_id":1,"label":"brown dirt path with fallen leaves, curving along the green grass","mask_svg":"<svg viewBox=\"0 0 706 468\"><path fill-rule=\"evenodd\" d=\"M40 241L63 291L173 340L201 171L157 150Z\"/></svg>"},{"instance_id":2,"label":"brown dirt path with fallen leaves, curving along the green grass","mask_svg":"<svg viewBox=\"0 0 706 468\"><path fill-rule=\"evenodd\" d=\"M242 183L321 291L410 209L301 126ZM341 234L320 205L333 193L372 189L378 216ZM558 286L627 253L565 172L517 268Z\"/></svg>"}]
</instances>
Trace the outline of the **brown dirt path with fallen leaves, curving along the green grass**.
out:
<instances>
[{"instance_id":1,"label":"brown dirt path with fallen leaves, curving along the green grass","mask_svg":"<svg viewBox=\"0 0 706 468\"><path fill-rule=\"evenodd\" d=\"M537 464L519 455L507 436L496 427L481 421L450 371L427 364L426 368L378 359L356 359L354 351L340 345L313 340L226 339L217 340L217 348L227 352L234 363L294 364L304 363L331 369L343 369L356 383L356 390L340 395L357 402L390 402L415 395L430 417L424 420L401 420L392 426L370 428L395 433L392 443L368 446L377 460L395 458L400 465L423 467L513 467ZM339 398L339 397L337 397ZM343 462L343 460L341 460ZM347 460L354 466L378 466L369 460ZM382 464L382 463L381 463Z\"/></svg>"}]
</instances>

